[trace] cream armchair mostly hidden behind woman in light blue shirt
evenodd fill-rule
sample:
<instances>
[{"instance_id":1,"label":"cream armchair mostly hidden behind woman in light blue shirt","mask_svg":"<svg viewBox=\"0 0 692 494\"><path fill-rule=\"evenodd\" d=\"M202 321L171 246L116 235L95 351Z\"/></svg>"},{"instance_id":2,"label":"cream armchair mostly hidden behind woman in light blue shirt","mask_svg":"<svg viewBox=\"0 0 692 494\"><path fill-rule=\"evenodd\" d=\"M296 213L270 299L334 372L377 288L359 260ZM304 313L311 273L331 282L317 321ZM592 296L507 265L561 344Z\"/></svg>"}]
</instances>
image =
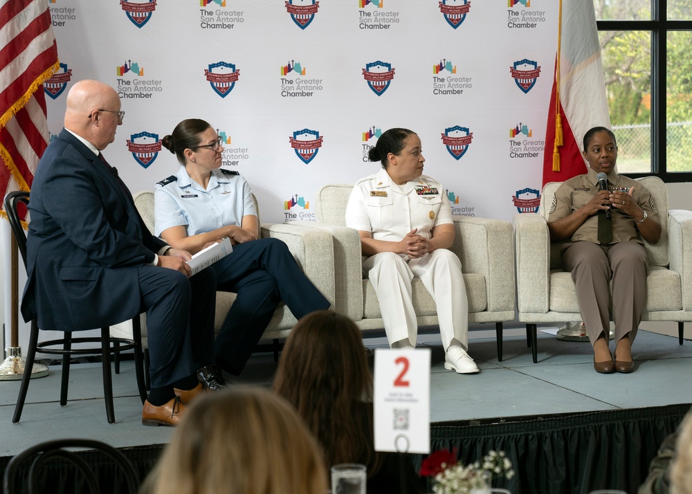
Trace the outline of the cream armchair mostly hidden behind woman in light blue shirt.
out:
<instances>
[{"instance_id":1,"label":"cream armchair mostly hidden behind woman in light blue shirt","mask_svg":"<svg viewBox=\"0 0 692 494\"><path fill-rule=\"evenodd\" d=\"M153 233L154 192L145 190L137 192L133 197L137 210L144 219L147 228ZM255 196L253 196L253 199L255 199L255 206L259 212L260 209L257 206L257 199ZM332 246L331 235L329 235L328 232L316 230L307 226L286 225L282 223L262 224L260 222L260 237L273 237L284 241L305 275L307 275L309 280L313 282L320 292L322 292L322 295L325 295L327 300L334 305L334 248ZM226 319L226 315L235 300L235 296L235 293L217 292L215 315L216 334L219 334L221 324L223 324ZM142 346L145 350L148 348L146 317L146 314L141 315ZM271 342L273 344L275 359L278 356L279 340L289 336L295 322L295 317L293 317L291 311L283 303L274 311L274 315L264 331L264 335L260 342ZM114 329L111 328L111 333L115 336L127 336L131 333L131 329L129 329L127 323L122 323L118 324ZM146 375L148 376L148 373L146 373Z\"/></svg>"}]
</instances>

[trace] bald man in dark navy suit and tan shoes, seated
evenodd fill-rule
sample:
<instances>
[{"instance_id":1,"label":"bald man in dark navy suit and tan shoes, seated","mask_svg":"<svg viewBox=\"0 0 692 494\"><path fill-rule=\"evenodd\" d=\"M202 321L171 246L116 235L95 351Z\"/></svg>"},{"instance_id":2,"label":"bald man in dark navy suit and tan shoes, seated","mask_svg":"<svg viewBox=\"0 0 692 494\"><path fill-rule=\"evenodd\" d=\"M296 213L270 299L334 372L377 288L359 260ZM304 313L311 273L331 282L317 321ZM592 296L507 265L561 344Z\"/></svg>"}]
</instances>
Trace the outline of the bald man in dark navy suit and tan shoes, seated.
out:
<instances>
[{"instance_id":1,"label":"bald man in dark navy suit and tan shoes, seated","mask_svg":"<svg viewBox=\"0 0 692 494\"><path fill-rule=\"evenodd\" d=\"M142 422L172 426L203 389L196 369L223 384L213 365L216 277L209 268L190 277L190 253L149 233L100 153L122 124L118 93L84 80L66 103L32 184L21 313L42 329L80 331L146 311L152 389Z\"/></svg>"}]
</instances>

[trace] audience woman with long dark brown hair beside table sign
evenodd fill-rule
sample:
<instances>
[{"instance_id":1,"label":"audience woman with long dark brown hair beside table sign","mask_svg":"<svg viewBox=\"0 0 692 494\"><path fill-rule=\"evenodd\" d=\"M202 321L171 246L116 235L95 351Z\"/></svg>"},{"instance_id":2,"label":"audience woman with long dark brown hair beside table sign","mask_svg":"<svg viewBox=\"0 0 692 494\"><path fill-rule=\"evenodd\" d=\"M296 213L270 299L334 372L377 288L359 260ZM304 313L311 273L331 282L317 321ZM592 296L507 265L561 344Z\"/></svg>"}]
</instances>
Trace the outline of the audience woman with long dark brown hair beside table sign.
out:
<instances>
[{"instance_id":1,"label":"audience woman with long dark brown hair beside table sign","mask_svg":"<svg viewBox=\"0 0 692 494\"><path fill-rule=\"evenodd\" d=\"M427 492L410 457L375 452L372 376L361 331L345 315L318 311L295 324L281 354L274 390L298 414L324 451L327 468L367 466L367 492ZM400 463L403 462L401 478Z\"/></svg>"}]
</instances>

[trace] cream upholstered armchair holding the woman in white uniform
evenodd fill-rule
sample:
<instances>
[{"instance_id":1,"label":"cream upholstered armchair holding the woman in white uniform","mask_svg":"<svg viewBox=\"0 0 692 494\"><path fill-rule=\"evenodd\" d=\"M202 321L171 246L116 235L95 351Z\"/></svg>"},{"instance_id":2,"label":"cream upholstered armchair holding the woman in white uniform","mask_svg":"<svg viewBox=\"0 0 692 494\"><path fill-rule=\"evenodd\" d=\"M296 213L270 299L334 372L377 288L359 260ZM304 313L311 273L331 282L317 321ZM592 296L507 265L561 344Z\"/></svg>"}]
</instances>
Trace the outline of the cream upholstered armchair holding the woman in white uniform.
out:
<instances>
[{"instance_id":1,"label":"cream upholstered armchair holding the woman in white uniform","mask_svg":"<svg viewBox=\"0 0 692 494\"><path fill-rule=\"evenodd\" d=\"M334 236L336 293L334 310L348 315L358 327L382 329L380 306L372 284L363 278L361 239L347 228L346 204L352 184L333 184L317 192L316 223L313 228ZM495 322L498 358L502 360L502 322L515 318L514 254L509 221L456 217L455 241L451 248L459 256L468 296L469 322ZM418 324L437 324L435 302L419 279L413 280L413 304Z\"/></svg>"}]
</instances>

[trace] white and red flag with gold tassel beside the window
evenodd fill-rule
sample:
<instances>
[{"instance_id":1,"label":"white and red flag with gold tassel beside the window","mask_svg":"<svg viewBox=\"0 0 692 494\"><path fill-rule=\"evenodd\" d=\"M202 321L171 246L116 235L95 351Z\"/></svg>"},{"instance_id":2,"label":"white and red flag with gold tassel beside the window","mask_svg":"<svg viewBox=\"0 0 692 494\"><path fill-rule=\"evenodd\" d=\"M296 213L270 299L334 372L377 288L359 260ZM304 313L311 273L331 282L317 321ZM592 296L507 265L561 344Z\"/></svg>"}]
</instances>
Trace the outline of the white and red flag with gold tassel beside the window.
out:
<instances>
[{"instance_id":1,"label":"white and red flag with gold tassel beside the window","mask_svg":"<svg viewBox=\"0 0 692 494\"><path fill-rule=\"evenodd\" d=\"M560 0L558 26L555 78L545 130L543 185L586 173L581 155L584 134L596 126L610 129L594 3Z\"/></svg>"}]
</instances>

